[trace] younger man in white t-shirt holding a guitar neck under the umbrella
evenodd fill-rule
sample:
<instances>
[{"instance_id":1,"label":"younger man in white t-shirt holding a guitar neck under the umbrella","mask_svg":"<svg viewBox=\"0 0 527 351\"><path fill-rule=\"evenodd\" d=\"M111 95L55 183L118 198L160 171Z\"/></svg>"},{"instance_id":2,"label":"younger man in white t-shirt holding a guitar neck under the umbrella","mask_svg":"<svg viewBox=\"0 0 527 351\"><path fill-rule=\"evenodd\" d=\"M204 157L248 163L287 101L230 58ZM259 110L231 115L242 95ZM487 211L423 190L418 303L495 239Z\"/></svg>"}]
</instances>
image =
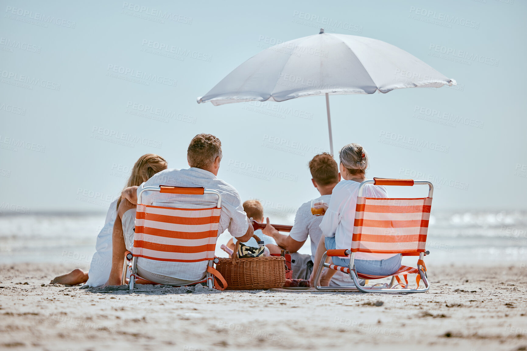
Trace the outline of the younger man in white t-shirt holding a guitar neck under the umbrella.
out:
<instances>
[{"instance_id":1,"label":"younger man in white t-shirt holding a guitar neck under the umbrella","mask_svg":"<svg viewBox=\"0 0 527 351\"><path fill-rule=\"evenodd\" d=\"M340 173L338 172L338 165L335 159L328 153L318 154L309 161L309 171L311 172L311 177L313 177L311 182L313 182L313 186L320 193L320 196L316 199L323 203L329 203L333 188L340 182ZM309 279L311 270L313 270L317 246L320 237L323 236L319 227L323 218L324 216L311 214L311 201L302 204L298 208L295 224L291 228L289 235L280 234L275 227L269 224L269 218L267 218L268 224L263 229L264 234L273 237L278 246L289 250L290 253L296 253L309 236L311 240L311 255L291 255L293 274L297 278ZM293 260L295 262L292 262ZM331 279L330 285L345 286L349 284L353 284L351 278L342 272L337 272Z\"/></svg>"}]
</instances>

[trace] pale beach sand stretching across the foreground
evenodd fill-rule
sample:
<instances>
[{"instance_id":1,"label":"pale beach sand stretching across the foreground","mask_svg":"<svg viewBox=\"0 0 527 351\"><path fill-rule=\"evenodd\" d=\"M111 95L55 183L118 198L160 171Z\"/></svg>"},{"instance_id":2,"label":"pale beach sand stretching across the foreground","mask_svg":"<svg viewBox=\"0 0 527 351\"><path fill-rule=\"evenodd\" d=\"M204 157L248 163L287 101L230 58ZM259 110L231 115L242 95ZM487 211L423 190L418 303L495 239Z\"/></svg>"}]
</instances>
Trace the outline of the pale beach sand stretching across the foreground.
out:
<instances>
[{"instance_id":1,"label":"pale beach sand stretching across the foreground","mask_svg":"<svg viewBox=\"0 0 527 351\"><path fill-rule=\"evenodd\" d=\"M48 285L72 268L0 266L0 349L527 349L520 264L430 266L430 292L389 296Z\"/></svg>"}]
</instances>

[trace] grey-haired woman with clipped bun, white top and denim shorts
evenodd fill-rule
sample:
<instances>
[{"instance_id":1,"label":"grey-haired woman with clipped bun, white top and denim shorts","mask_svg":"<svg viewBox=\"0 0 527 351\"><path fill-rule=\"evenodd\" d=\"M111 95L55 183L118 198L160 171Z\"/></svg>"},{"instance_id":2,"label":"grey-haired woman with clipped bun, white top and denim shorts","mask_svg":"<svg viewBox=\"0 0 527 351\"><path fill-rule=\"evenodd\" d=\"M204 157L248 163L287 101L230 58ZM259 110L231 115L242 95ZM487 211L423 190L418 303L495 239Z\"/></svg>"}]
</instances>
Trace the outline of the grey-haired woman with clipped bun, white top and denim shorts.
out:
<instances>
[{"instance_id":1,"label":"grey-haired woman with clipped bun, white top and denim shorts","mask_svg":"<svg viewBox=\"0 0 527 351\"><path fill-rule=\"evenodd\" d=\"M369 165L368 154L359 144L348 144L340 149L341 180L331 194L320 229L324 236L320 238L315 256L315 267L311 283L317 274L322 255L329 249L349 249L352 247L355 208L359 185L366 180L366 169ZM366 184L363 187L365 197L388 197L386 188L381 185ZM327 258L329 262L330 257ZM355 253L357 272L369 275L391 275L401 266L401 254ZM347 267L349 259L333 257L333 264ZM321 285L328 285L336 270L326 269L320 277Z\"/></svg>"}]
</instances>

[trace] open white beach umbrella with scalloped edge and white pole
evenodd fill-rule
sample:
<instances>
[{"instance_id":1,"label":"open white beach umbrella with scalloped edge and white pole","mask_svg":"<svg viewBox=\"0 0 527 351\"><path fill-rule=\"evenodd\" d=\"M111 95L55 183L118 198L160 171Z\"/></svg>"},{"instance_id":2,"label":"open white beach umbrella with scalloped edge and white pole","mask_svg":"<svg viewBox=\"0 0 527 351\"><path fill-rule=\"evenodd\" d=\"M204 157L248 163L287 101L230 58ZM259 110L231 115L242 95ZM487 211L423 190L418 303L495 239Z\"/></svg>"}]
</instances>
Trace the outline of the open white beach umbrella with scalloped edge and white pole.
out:
<instances>
[{"instance_id":1,"label":"open white beach umbrella with scalloped edge and white pole","mask_svg":"<svg viewBox=\"0 0 527 351\"><path fill-rule=\"evenodd\" d=\"M354 35L324 33L265 49L229 73L198 103L282 102L329 94L387 93L397 88L455 85L415 56L391 44Z\"/></svg>"}]
</instances>

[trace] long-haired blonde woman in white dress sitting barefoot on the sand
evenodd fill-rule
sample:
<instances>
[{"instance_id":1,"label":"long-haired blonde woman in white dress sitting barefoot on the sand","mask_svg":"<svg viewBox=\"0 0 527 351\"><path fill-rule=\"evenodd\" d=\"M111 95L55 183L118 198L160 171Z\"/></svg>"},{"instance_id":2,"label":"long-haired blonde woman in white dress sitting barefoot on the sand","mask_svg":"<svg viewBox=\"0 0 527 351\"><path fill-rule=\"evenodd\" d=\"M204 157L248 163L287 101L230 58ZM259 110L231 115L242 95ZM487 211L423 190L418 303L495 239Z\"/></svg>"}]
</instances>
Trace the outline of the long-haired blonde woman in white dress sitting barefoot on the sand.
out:
<instances>
[{"instance_id":1,"label":"long-haired blonde woman in white dress sitting barefoot on the sand","mask_svg":"<svg viewBox=\"0 0 527 351\"><path fill-rule=\"evenodd\" d=\"M124 188L139 186L163 169L167 169L167 161L163 157L155 154L143 155L135 162L132 174ZM68 274L55 277L51 280L52 284L77 285L86 283L89 286L102 286L108 282L112 268L112 230L121 200L122 197L119 196L110 204L104 227L97 235L96 252L93 254L89 272L83 272L82 269L76 268Z\"/></svg>"}]
</instances>

